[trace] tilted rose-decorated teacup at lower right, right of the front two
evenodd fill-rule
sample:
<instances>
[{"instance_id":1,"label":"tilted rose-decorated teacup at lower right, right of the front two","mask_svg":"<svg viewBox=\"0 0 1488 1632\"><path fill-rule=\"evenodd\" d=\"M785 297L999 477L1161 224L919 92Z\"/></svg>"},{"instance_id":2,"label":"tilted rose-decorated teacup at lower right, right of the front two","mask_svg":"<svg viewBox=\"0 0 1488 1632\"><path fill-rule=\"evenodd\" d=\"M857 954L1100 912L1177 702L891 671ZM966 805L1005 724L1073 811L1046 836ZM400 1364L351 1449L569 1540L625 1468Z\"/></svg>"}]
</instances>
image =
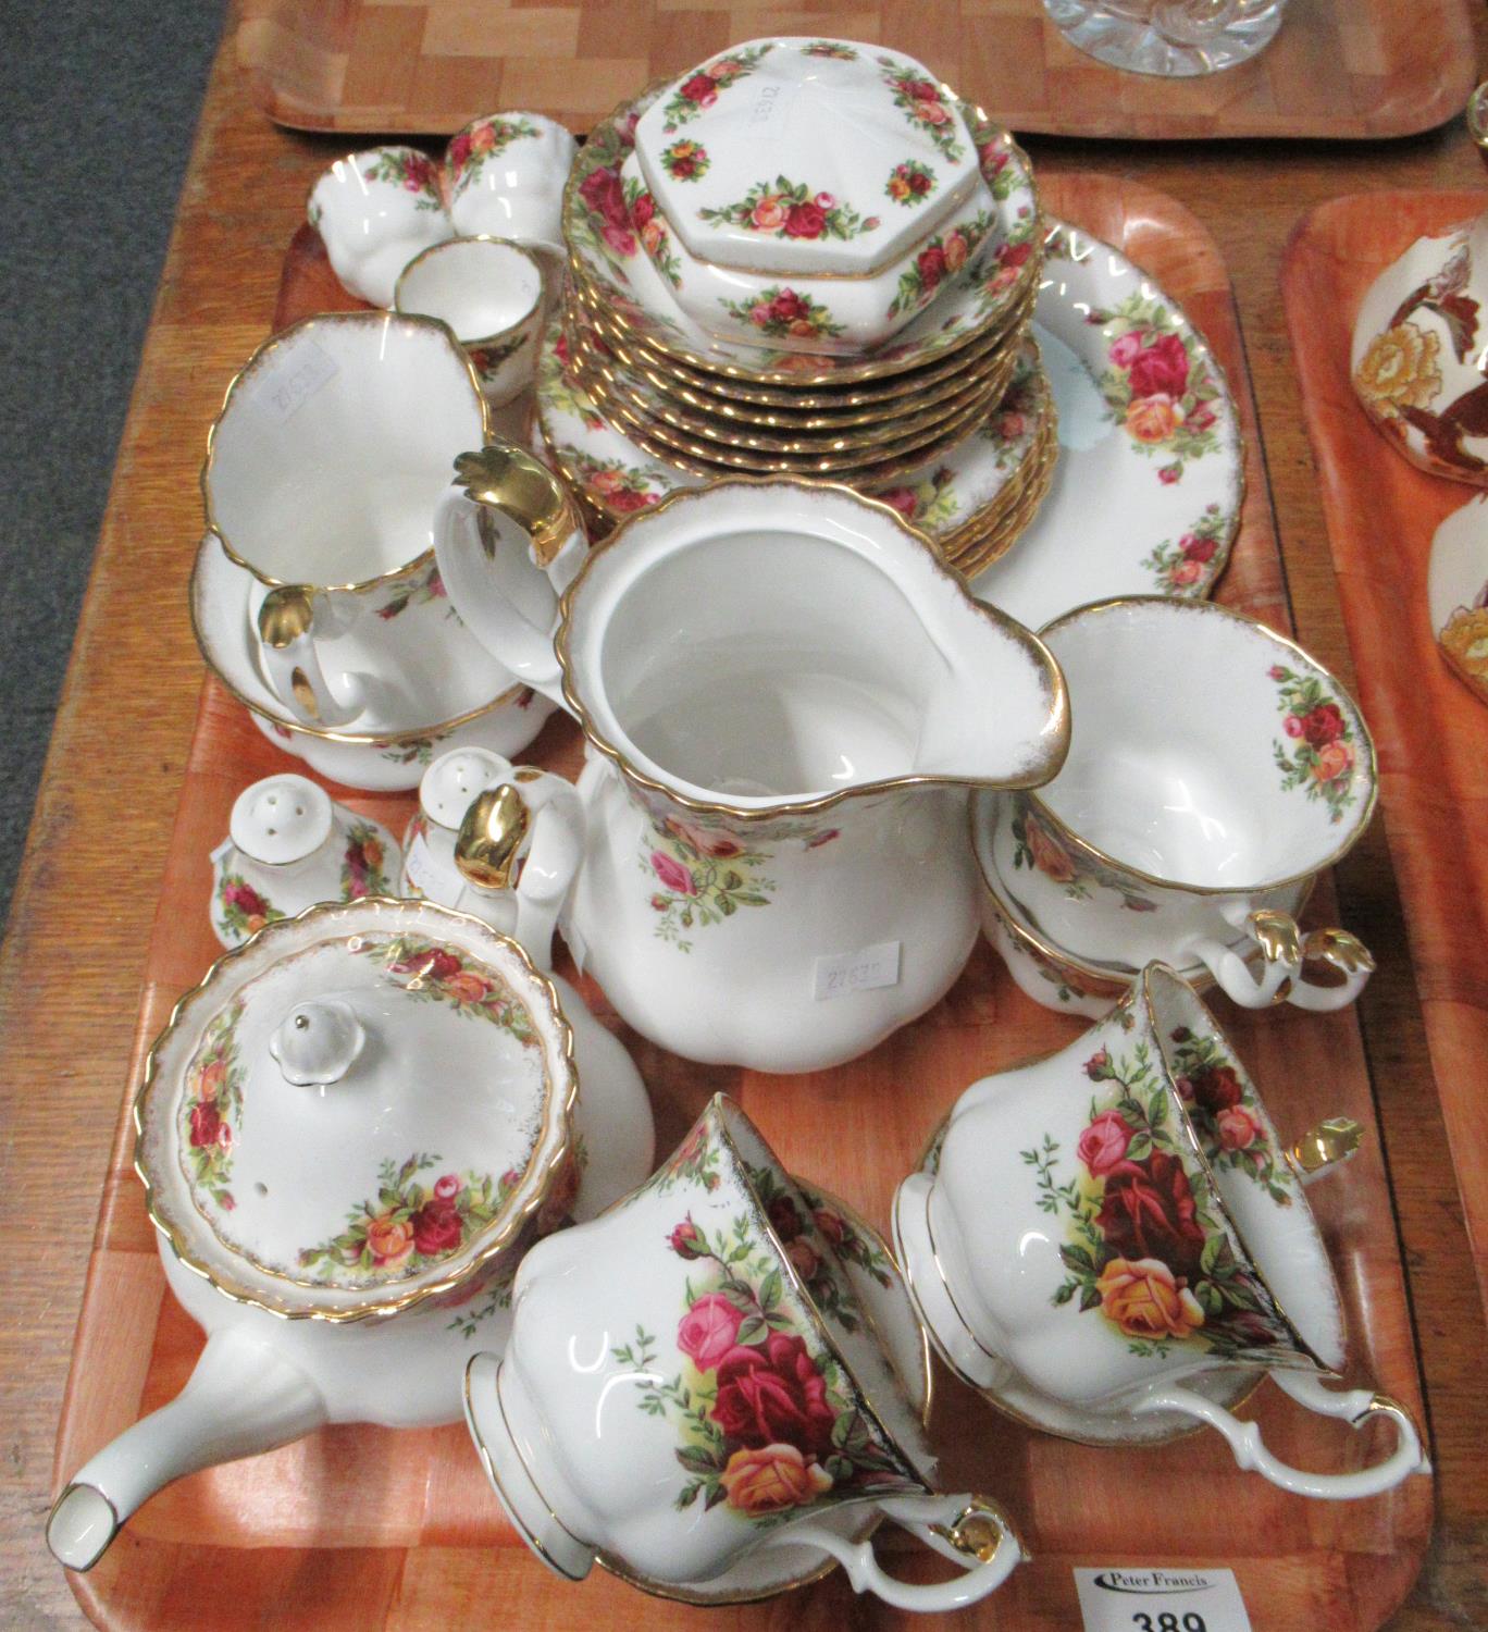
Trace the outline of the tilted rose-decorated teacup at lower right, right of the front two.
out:
<instances>
[{"instance_id":1,"label":"tilted rose-decorated teacup at lower right, right of the front two","mask_svg":"<svg viewBox=\"0 0 1488 1632\"><path fill-rule=\"evenodd\" d=\"M1209 1010L1154 963L1069 1048L961 1095L894 1198L899 1258L951 1368L1039 1426L1114 1441L1198 1420L1286 1490L1375 1495L1428 1464L1403 1407L1322 1381L1343 1307L1300 1178L1357 1133L1325 1123L1286 1152ZM1390 1417L1395 1449L1289 1467L1225 1407L1258 1373L1320 1415Z\"/></svg>"}]
</instances>

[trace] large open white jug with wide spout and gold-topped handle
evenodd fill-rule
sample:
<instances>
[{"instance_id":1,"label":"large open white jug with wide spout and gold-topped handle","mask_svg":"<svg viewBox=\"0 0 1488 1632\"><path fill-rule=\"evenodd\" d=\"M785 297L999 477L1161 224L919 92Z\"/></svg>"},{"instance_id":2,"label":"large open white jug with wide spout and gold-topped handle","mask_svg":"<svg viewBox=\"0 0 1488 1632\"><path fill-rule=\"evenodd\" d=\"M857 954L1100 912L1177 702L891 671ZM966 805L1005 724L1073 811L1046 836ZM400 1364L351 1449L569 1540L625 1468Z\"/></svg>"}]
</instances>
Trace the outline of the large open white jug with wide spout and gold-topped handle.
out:
<instances>
[{"instance_id":1,"label":"large open white jug with wide spout and gold-topped handle","mask_svg":"<svg viewBox=\"0 0 1488 1632\"><path fill-rule=\"evenodd\" d=\"M716 481L586 550L530 455L457 472L450 602L587 738L560 925L620 1015L799 1072L935 1004L977 932L969 790L1044 783L1069 744L1043 643L848 488Z\"/></svg>"}]
</instances>

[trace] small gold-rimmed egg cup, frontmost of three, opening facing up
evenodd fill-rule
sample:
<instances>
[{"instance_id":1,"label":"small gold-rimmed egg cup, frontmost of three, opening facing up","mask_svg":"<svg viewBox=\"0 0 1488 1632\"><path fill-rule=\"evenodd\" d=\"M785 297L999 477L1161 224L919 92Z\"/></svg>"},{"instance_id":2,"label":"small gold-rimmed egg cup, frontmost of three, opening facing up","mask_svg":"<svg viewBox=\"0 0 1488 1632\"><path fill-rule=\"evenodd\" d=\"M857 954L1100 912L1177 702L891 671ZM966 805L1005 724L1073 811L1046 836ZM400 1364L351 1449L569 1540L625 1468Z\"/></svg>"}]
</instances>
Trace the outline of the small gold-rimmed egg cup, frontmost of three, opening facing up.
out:
<instances>
[{"instance_id":1,"label":"small gold-rimmed egg cup, frontmost of three, opening facing up","mask_svg":"<svg viewBox=\"0 0 1488 1632\"><path fill-rule=\"evenodd\" d=\"M493 408L503 408L532 384L543 271L520 243L506 238L436 243L403 268L393 307L405 317L449 323Z\"/></svg>"}]
</instances>

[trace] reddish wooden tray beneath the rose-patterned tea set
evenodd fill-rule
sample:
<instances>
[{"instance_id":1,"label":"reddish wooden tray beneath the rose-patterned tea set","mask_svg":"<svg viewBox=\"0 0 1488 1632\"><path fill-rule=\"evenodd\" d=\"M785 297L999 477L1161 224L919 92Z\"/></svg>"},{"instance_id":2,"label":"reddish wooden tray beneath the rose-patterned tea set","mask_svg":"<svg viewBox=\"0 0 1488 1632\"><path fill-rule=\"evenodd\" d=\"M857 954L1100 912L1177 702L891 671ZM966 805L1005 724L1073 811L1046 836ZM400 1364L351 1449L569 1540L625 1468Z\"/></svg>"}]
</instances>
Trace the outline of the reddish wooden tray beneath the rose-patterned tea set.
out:
<instances>
[{"instance_id":1,"label":"reddish wooden tray beneath the rose-patterned tea set","mask_svg":"<svg viewBox=\"0 0 1488 1632\"><path fill-rule=\"evenodd\" d=\"M1204 330L1235 387L1248 447L1240 535L1219 599L1289 623L1255 410L1224 264L1199 224L1171 199L1100 176L1051 176L1051 211L1119 245ZM300 250L305 250L302 240ZM313 255L286 268L277 320L328 297ZM331 286L334 279L331 279ZM343 302L344 304L344 297ZM532 761L573 772L579 738L550 721ZM175 997L217 947L207 924L209 850L227 831L237 792L299 765L272 747L215 684L202 694L171 857L150 942L132 1095L140 1059ZM410 795L333 788L395 831ZM1333 911L1331 889L1318 911ZM568 971L565 971L568 973ZM649 1085L661 1152L710 1093L734 1093L783 1160L839 1191L879 1226L943 1113L977 1075L1078 1035L1078 1023L1028 1002L981 947L951 996L866 1058L813 1077L772 1079L697 1067L627 1031L592 982L586 999L631 1048ZM1313 1191L1343 1286L1349 1381L1369 1379L1419 1417L1421 1392L1392 1227L1369 1071L1353 1012L1281 1009L1224 1025L1264 1087L1282 1133L1325 1115L1356 1116L1366 1149ZM153 1229L131 1172L127 1097L104 1188L62 1423L57 1483L142 1412L184 1382L201 1333L165 1296ZM968 1629L1065 1632L1077 1624L1074 1565L1227 1565L1256 1632L1377 1627L1405 1598L1431 1531L1433 1490L1411 1479L1372 1501L1322 1503L1242 1474L1216 1436L1147 1451L1101 1451L1026 1431L956 1384L935 1377L932 1435L950 1488L985 1488L1008 1505L1033 1552ZM1273 1386L1247 1407L1289 1461L1341 1469L1380 1454L1367 1435L1304 1417ZM906 1573L937 1570L920 1554ZM641 1599L596 1570L582 1586L550 1577L501 1518L458 1425L429 1431L343 1426L269 1456L209 1469L162 1492L104 1560L73 1588L101 1627L168 1632L212 1627L413 1632L499 1622L509 1627L821 1629L907 1625L876 1601L855 1601L840 1572L775 1603L700 1611Z\"/></svg>"}]
</instances>

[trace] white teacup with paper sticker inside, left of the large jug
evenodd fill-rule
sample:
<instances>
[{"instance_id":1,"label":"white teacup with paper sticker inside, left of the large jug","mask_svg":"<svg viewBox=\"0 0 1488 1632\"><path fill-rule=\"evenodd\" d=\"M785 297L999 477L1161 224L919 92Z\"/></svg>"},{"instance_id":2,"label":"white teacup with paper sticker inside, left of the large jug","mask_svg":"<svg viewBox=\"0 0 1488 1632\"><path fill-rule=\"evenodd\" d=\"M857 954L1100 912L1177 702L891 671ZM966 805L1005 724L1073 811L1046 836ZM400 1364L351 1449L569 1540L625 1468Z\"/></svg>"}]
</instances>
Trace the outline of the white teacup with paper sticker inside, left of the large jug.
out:
<instances>
[{"instance_id":1,"label":"white teacup with paper sticker inside, left of the large jug","mask_svg":"<svg viewBox=\"0 0 1488 1632\"><path fill-rule=\"evenodd\" d=\"M488 432L470 359L423 317L307 318L232 382L202 465L207 526L255 581L248 633L294 720L414 725L447 718L427 712L431 689L468 712L514 685L432 553L455 455Z\"/></svg>"}]
</instances>

